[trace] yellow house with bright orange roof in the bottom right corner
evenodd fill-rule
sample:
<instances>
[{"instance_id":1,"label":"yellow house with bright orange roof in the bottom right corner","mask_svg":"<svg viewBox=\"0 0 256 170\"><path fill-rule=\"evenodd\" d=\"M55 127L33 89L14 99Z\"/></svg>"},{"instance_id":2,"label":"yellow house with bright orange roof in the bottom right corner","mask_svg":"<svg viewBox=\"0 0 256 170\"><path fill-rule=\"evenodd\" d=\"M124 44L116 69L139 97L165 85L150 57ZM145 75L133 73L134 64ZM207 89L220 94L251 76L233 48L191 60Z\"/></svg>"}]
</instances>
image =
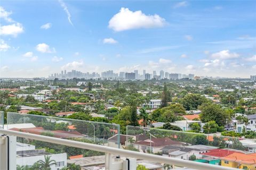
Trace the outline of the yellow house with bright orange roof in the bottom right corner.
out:
<instances>
[{"instance_id":1,"label":"yellow house with bright orange roof in the bottom right corner","mask_svg":"<svg viewBox=\"0 0 256 170\"><path fill-rule=\"evenodd\" d=\"M235 152L226 157L222 157L221 166L238 169L256 169L256 154L244 154Z\"/></svg>"}]
</instances>

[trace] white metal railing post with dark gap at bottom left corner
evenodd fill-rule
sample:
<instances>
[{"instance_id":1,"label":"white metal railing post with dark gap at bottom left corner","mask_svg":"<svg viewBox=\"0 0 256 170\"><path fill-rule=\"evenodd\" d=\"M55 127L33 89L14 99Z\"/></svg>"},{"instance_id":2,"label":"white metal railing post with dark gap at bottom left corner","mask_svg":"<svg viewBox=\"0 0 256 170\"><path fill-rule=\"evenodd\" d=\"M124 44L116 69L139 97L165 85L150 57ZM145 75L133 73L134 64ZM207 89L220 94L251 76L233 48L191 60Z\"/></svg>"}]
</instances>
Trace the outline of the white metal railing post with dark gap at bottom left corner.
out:
<instances>
[{"instance_id":1,"label":"white metal railing post with dark gap at bottom left corner","mask_svg":"<svg viewBox=\"0 0 256 170\"><path fill-rule=\"evenodd\" d=\"M0 137L0 169L16 169L16 137Z\"/></svg>"}]
</instances>

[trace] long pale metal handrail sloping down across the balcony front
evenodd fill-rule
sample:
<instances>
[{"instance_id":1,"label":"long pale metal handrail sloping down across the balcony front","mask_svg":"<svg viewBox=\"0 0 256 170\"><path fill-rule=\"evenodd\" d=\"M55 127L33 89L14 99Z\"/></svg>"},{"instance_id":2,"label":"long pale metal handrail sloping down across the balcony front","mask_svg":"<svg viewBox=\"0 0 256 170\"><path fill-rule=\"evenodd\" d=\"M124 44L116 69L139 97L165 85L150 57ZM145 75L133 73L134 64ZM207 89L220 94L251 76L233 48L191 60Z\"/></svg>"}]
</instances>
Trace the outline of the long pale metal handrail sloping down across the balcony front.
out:
<instances>
[{"instance_id":1,"label":"long pale metal handrail sloping down across the balcony front","mask_svg":"<svg viewBox=\"0 0 256 170\"><path fill-rule=\"evenodd\" d=\"M113 154L113 155L122 155L125 157L149 160L151 162L164 163L164 164L181 166L181 167L194 168L194 169L198 169L198 170L206 170L206 169L236 170L236 168L230 168L230 167L224 167L224 166L218 166L218 165L212 165L212 164L205 164L205 163L198 163L198 162L194 162L191 160L164 157L164 156L153 155L153 154L145 154L145 153L131 151L131 150L111 148L111 147L107 147L107 146L95 145L92 143L78 142L78 141L73 141L73 140L60 139L60 138L54 138L54 137L48 137L48 136L44 136L44 135L18 132L18 131L12 131L12 130L2 130L1 129L0 134L14 135L14 136L21 137L21 138L34 139L34 140L50 142L50 143L55 143L55 144L65 145L65 146L70 146L70 147L75 147L75 148L81 148L81 149L95 150L95 151L105 152L105 153Z\"/></svg>"}]
</instances>

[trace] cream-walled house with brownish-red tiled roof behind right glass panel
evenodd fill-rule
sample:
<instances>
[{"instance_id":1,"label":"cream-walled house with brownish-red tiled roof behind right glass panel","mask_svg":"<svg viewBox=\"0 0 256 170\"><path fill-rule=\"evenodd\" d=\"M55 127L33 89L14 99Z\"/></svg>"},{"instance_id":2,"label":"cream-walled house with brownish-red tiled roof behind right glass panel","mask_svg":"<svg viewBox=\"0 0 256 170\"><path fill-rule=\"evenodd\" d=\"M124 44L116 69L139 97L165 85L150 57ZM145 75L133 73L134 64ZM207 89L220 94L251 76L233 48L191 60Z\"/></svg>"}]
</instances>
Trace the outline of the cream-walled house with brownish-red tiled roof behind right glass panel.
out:
<instances>
[{"instance_id":1,"label":"cream-walled house with brownish-red tiled roof behind right glass panel","mask_svg":"<svg viewBox=\"0 0 256 170\"><path fill-rule=\"evenodd\" d=\"M139 149L143 152L147 152L148 150L156 154L157 152L160 152L162 148L169 145L175 145L175 146L182 146L182 142L171 140L170 138L154 138L146 139L143 141L136 141L133 142L133 147L136 149Z\"/></svg>"}]
</instances>

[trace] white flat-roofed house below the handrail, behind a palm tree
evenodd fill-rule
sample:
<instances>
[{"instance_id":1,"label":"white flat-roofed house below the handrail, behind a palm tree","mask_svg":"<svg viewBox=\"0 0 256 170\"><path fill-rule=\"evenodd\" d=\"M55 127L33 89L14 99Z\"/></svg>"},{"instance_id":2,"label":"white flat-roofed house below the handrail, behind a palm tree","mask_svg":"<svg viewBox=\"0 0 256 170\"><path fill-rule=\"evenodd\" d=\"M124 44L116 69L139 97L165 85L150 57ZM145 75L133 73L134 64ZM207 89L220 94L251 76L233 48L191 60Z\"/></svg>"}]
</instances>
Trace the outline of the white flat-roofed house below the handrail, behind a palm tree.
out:
<instances>
[{"instance_id":1,"label":"white flat-roofed house below the handrail, behind a palm tree","mask_svg":"<svg viewBox=\"0 0 256 170\"><path fill-rule=\"evenodd\" d=\"M50 156L51 160L55 160L55 164L50 166L52 170L58 170L67 166L66 153L51 154L46 152L44 149L17 151L17 165L32 166L38 162L38 160L44 160L44 156Z\"/></svg>"}]
</instances>

